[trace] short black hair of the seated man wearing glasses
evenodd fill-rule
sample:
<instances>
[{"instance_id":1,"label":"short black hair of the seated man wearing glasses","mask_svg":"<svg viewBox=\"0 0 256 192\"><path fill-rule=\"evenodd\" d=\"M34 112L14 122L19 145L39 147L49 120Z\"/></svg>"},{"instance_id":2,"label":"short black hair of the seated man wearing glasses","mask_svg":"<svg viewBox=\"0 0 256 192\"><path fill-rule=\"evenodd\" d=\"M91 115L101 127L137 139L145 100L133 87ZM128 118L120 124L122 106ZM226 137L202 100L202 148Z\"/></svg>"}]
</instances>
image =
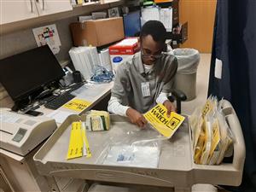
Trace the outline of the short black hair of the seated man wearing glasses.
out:
<instances>
[{"instance_id":1,"label":"short black hair of the seated man wearing glasses","mask_svg":"<svg viewBox=\"0 0 256 192\"><path fill-rule=\"evenodd\" d=\"M142 27L140 38L151 35L155 42L166 42L166 27L159 20L148 20Z\"/></svg>"}]
</instances>

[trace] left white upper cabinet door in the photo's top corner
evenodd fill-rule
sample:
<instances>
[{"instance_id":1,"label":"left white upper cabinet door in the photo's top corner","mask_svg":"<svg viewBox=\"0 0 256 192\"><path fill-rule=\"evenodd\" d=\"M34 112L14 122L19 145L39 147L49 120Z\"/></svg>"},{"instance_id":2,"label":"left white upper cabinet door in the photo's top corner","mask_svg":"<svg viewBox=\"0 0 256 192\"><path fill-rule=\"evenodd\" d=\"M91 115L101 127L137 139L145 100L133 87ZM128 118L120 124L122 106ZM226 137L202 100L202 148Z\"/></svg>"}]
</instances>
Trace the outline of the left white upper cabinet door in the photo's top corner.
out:
<instances>
[{"instance_id":1,"label":"left white upper cabinet door in the photo's top corner","mask_svg":"<svg viewBox=\"0 0 256 192\"><path fill-rule=\"evenodd\" d=\"M0 0L0 24L38 16L34 0Z\"/></svg>"}]
</instances>

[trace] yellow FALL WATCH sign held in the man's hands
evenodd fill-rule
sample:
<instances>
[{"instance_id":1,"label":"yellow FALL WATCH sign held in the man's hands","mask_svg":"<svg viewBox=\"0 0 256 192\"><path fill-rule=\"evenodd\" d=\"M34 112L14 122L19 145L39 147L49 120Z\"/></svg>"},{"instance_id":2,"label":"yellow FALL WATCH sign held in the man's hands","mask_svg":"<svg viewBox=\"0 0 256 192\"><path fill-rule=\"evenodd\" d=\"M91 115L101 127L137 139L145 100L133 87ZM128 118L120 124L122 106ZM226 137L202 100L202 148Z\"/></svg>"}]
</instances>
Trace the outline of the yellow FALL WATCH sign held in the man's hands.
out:
<instances>
[{"instance_id":1,"label":"yellow FALL WATCH sign held in the man's hands","mask_svg":"<svg viewBox=\"0 0 256 192\"><path fill-rule=\"evenodd\" d=\"M167 117L166 113L166 107L158 104L145 113L144 117L160 134L164 137L171 138L185 118L174 112L171 113L170 117Z\"/></svg>"}]
</instances>

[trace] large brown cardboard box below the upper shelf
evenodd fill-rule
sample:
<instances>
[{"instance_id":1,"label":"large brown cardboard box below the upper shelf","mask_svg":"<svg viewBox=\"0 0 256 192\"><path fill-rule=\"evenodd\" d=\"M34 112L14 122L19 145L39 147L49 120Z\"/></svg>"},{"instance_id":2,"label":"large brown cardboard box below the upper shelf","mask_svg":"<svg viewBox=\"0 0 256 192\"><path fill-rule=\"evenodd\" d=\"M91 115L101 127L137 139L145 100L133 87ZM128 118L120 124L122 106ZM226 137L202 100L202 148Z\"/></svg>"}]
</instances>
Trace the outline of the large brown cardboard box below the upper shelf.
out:
<instances>
[{"instance_id":1,"label":"large brown cardboard box below the upper shelf","mask_svg":"<svg viewBox=\"0 0 256 192\"><path fill-rule=\"evenodd\" d=\"M125 38L122 17L70 24L74 46L102 46Z\"/></svg>"}]
</instances>

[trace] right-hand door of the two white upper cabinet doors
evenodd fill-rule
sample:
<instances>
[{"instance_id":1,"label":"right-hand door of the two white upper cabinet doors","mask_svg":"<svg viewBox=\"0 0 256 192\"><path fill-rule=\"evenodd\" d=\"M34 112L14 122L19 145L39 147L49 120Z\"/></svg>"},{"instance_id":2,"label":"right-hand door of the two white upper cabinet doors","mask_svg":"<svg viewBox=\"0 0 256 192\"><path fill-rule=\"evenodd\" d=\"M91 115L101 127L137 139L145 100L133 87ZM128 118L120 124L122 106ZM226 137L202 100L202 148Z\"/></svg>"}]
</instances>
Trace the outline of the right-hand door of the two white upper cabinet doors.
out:
<instances>
[{"instance_id":1,"label":"right-hand door of the two white upper cabinet doors","mask_svg":"<svg viewBox=\"0 0 256 192\"><path fill-rule=\"evenodd\" d=\"M70 0L34 0L38 8L38 14L50 15L72 10Z\"/></svg>"}]
</instances>

